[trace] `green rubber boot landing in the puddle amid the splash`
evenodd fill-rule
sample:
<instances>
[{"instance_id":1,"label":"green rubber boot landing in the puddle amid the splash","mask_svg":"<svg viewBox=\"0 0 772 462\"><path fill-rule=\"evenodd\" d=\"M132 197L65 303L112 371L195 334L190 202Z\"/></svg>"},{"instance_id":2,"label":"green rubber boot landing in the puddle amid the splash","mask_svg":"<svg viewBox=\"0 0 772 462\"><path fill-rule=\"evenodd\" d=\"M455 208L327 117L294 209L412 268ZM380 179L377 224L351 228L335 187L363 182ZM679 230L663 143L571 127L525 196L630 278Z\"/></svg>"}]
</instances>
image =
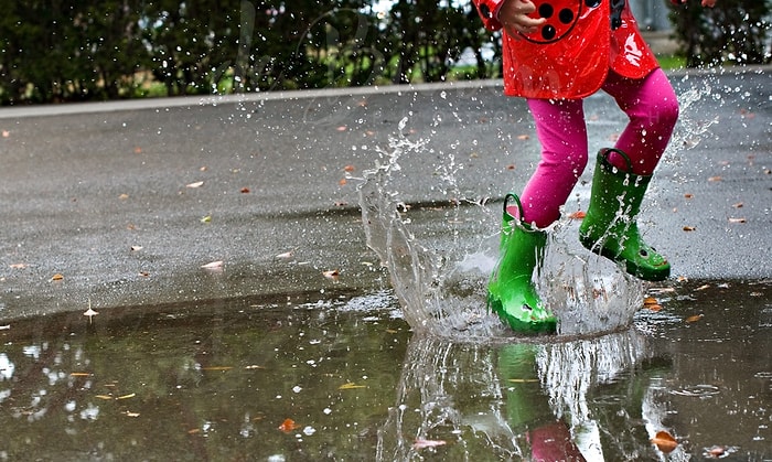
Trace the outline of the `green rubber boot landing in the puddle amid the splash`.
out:
<instances>
[{"instance_id":1,"label":"green rubber boot landing in the puddle amid the splash","mask_svg":"<svg viewBox=\"0 0 772 462\"><path fill-rule=\"evenodd\" d=\"M542 303L532 280L534 270L544 260L547 233L510 214L510 200L517 203L519 216L523 216L519 198L507 194L504 200L501 257L487 284L487 307L515 332L554 333L557 319Z\"/></svg>"}]
</instances>

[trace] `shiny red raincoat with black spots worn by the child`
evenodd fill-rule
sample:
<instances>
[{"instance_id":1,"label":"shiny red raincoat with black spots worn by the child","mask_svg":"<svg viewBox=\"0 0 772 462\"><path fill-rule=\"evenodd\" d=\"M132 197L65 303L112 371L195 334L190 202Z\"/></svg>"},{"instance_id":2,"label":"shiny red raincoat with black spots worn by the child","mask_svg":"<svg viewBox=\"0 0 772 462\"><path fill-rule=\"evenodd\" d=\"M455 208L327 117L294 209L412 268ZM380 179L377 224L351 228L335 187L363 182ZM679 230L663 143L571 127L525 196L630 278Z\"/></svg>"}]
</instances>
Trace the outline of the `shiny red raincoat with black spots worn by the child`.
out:
<instances>
[{"instance_id":1,"label":"shiny red raincoat with black spots worn by the child","mask_svg":"<svg viewBox=\"0 0 772 462\"><path fill-rule=\"evenodd\" d=\"M511 0L519 1L519 0ZM537 32L503 34L504 94L526 98L578 99L596 93L609 73L643 78L658 67L625 4L611 30L611 0L533 0ZM496 13L504 0L473 0L485 28L502 29Z\"/></svg>"}]
</instances>

